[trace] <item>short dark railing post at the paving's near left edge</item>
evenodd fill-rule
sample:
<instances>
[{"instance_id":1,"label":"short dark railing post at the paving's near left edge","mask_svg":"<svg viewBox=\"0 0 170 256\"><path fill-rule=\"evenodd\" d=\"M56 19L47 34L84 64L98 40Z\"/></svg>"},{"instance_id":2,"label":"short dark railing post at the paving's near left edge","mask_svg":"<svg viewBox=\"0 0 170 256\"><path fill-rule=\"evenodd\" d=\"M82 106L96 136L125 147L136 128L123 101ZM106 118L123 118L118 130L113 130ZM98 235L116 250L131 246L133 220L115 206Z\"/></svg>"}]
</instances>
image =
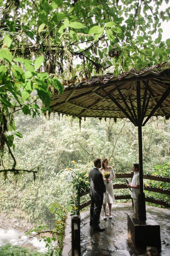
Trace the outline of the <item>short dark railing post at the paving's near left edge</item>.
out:
<instances>
[{"instance_id":1,"label":"short dark railing post at the paving's near left edge","mask_svg":"<svg viewBox=\"0 0 170 256\"><path fill-rule=\"evenodd\" d=\"M72 256L80 256L80 215L72 215Z\"/></svg>"}]
</instances>

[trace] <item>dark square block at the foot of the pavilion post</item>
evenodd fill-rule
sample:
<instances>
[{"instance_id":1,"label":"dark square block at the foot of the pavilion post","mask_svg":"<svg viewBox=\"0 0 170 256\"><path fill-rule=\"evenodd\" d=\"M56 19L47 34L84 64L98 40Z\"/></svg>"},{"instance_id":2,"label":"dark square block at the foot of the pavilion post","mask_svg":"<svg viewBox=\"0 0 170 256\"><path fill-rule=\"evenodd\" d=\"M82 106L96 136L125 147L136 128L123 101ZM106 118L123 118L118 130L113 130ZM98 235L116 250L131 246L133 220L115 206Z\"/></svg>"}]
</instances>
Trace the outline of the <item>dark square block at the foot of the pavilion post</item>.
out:
<instances>
[{"instance_id":1,"label":"dark square block at the foot of the pavilion post","mask_svg":"<svg viewBox=\"0 0 170 256\"><path fill-rule=\"evenodd\" d=\"M135 247L161 248L160 226L152 219L139 221L127 214L128 234Z\"/></svg>"}]
</instances>

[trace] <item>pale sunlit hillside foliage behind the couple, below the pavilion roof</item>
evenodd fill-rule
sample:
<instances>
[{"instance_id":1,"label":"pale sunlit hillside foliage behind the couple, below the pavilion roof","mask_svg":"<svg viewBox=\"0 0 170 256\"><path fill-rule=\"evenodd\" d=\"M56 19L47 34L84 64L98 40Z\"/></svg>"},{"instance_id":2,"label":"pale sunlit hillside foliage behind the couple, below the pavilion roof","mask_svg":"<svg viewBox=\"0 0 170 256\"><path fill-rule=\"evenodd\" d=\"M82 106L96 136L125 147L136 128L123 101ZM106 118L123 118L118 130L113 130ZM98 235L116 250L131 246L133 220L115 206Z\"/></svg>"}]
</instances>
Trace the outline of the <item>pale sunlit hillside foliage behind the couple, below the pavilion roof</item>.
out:
<instances>
[{"instance_id":1,"label":"pale sunlit hillside foliage behind the couple, below the pavilion roof","mask_svg":"<svg viewBox=\"0 0 170 256\"><path fill-rule=\"evenodd\" d=\"M170 159L169 121L164 124L163 118L158 119L157 122L152 118L143 127L144 173L154 173L155 165ZM87 118L80 131L76 119L37 117L32 120L21 114L16 116L16 127L23 134L22 140L16 138L14 141L18 165L23 169L39 165L39 171L35 182L29 173L18 177L11 174L5 181L1 173L0 208L14 215L13 209L20 210L21 216L26 213L31 222L50 223L53 216L48 209L56 200L64 207L71 204L69 177L78 170L90 170L95 157L108 157L116 173L131 172L132 164L138 162L138 130L128 120L119 120L115 124L112 120L101 120L100 123L97 119ZM6 154L5 169L10 166L10 161Z\"/></svg>"}]
</instances>

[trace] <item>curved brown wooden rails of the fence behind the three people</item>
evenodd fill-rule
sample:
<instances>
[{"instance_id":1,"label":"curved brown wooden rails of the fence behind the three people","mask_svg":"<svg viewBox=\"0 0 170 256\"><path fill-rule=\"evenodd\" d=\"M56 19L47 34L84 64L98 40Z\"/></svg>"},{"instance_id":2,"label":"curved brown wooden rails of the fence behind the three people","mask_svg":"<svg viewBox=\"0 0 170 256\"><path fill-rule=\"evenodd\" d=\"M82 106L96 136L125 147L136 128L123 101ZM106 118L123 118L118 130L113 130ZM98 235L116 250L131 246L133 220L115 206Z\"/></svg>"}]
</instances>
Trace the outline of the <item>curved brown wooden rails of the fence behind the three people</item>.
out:
<instances>
[{"instance_id":1,"label":"curved brown wooden rails of the fence behind the three people","mask_svg":"<svg viewBox=\"0 0 170 256\"><path fill-rule=\"evenodd\" d=\"M132 173L116 174L116 178L132 178L133 174L134 174L133 172ZM146 180L155 180L155 181L163 181L163 182L169 182L170 183L170 178L167 178L167 177L160 177L160 176L153 176L153 175L144 174L143 178L146 179ZM126 184L113 184L113 188L114 189L122 189L122 188L128 189ZM170 195L170 189L155 188L155 187L150 187L150 186L145 186L144 185L144 190ZM87 195L88 193L89 193L89 191L82 193L81 197ZM130 194L129 195L121 195L121 196L115 195L115 199L116 200L131 199L131 196L130 196ZM162 200L153 199L153 198L150 198L150 197L147 197L147 196L146 196L145 200L146 200L146 202L159 204L159 205L162 205L162 206L165 206L165 207L170 207L169 203L164 202ZM90 204L91 204L91 200L89 200L88 202L85 202L83 204L80 204L80 210L82 210L86 206L89 206Z\"/></svg>"}]
</instances>

